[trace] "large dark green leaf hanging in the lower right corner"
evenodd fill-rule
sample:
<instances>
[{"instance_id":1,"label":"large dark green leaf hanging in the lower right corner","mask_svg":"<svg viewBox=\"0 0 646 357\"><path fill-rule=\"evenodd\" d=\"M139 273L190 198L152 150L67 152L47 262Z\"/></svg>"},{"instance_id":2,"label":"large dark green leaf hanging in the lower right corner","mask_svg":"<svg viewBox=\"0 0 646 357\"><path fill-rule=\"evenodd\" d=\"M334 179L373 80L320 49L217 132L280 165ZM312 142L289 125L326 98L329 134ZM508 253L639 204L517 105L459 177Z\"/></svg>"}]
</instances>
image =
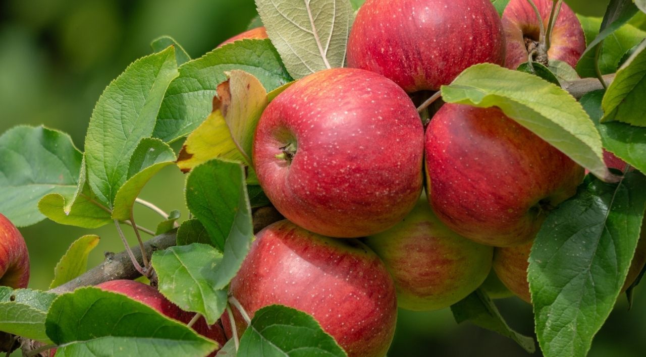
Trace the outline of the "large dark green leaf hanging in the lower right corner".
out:
<instances>
[{"instance_id":1,"label":"large dark green leaf hanging in the lower right corner","mask_svg":"<svg viewBox=\"0 0 646 357\"><path fill-rule=\"evenodd\" d=\"M646 209L646 176L616 184L587 176L552 211L529 258L536 332L546 356L585 356L608 318L634 255Z\"/></svg>"}]
</instances>

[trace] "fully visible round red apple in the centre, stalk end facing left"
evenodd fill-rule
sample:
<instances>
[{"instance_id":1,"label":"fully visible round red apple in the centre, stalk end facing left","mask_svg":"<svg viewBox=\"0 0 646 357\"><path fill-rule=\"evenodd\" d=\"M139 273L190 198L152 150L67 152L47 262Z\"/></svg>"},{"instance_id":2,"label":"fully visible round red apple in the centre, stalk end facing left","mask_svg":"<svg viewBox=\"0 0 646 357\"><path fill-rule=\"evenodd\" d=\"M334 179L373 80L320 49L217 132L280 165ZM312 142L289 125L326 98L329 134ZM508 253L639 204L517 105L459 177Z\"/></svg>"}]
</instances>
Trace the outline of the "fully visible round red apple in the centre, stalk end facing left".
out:
<instances>
[{"instance_id":1,"label":"fully visible round red apple in the centre, stalk end facing left","mask_svg":"<svg viewBox=\"0 0 646 357\"><path fill-rule=\"evenodd\" d=\"M253 162L276 209L324 236L386 230L422 190L422 122L406 93L379 74L333 68L276 96L256 128Z\"/></svg>"}]
</instances>

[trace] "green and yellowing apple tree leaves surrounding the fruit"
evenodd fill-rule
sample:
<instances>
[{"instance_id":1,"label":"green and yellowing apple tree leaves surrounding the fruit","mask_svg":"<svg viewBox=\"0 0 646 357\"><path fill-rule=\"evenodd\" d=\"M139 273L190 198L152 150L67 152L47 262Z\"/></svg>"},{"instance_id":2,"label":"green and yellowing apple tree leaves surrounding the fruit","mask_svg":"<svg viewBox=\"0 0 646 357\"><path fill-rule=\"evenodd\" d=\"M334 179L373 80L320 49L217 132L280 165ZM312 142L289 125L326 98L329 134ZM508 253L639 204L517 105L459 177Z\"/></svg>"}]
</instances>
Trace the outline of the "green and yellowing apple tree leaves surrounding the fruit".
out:
<instances>
[{"instance_id":1,"label":"green and yellowing apple tree leaves surrounding the fruit","mask_svg":"<svg viewBox=\"0 0 646 357\"><path fill-rule=\"evenodd\" d=\"M360 0L256 0L269 39L245 39L191 59L174 39L129 65L98 99L85 152L45 127L20 126L0 136L0 211L25 227L45 218L97 228L136 226L132 207L161 168L188 172L177 245L158 250L151 267L161 293L214 323L227 311L227 287L253 241L251 209L267 205L251 162L251 141L267 103L307 74L345 65L346 42ZM492 0L502 13L508 1ZM289 11L287 11L287 9ZM640 236L646 209L646 33L627 25L642 0L612 0L603 19L579 16L588 48L576 68L560 61L519 71L475 65L441 88L443 100L499 107L590 174L576 196L550 212L529 258L536 336L546 356L584 356L607 319ZM311 14L318 14L312 17ZM564 88L580 77L616 73L604 90L580 100ZM563 88L561 88L563 87ZM169 146L184 140L180 152ZM602 149L628 165L610 171ZM634 169L633 169L634 168ZM174 229L177 211L153 234ZM83 274L97 236L72 243L51 287ZM209 267L209 269L205 269ZM631 289L629 289L630 292ZM479 289L452 307L534 351L532 338L505 323ZM222 347L151 307L84 287L51 292L0 288L0 331L51 347L57 356L207 355ZM273 305L222 354L343 356L304 312Z\"/></svg>"}]
</instances>

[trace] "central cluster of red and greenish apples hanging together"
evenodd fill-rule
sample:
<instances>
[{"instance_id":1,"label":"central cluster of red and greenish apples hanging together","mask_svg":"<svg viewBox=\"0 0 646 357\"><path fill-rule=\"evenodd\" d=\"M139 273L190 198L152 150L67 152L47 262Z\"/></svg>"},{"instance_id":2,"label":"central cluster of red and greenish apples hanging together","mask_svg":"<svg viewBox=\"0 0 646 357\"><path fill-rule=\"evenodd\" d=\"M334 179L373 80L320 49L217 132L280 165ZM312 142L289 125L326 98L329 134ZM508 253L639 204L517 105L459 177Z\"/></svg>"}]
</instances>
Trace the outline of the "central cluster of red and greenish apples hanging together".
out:
<instances>
[{"instance_id":1,"label":"central cluster of red and greenish apples hanging together","mask_svg":"<svg viewBox=\"0 0 646 357\"><path fill-rule=\"evenodd\" d=\"M498 108L444 104L424 128L411 96L477 63L576 65L585 38L574 12L562 6L546 50L540 22L547 28L553 2L534 3L510 1L501 20L489 0L368 0L350 32L350 68L304 77L269 103L253 161L288 220L257 235L231 282L247 313L294 307L350 356L379 356L397 306L448 307L492 266L530 301L532 238L583 168Z\"/></svg>"}]
</instances>

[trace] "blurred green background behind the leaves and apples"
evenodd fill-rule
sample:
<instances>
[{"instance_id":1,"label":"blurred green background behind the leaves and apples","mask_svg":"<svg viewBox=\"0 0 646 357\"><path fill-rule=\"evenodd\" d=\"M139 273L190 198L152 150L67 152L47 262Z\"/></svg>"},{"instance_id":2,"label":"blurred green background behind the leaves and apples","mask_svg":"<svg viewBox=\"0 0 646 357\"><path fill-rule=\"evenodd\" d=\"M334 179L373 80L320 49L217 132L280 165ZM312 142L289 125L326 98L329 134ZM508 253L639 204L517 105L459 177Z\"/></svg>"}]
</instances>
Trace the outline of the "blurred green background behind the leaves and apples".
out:
<instances>
[{"instance_id":1,"label":"blurred green background behind the leaves and apples","mask_svg":"<svg viewBox=\"0 0 646 357\"><path fill-rule=\"evenodd\" d=\"M608 0L570 0L584 15L603 15ZM151 52L161 35L174 37L192 57L242 32L255 16L253 0L10 0L0 2L0 133L19 124L68 132L83 141L94 103L111 79L134 59ZM141 197L170 211L183 201L183 175L166 168ZM136 207L137 222L154 229L159 216ZM132 243L133 234L129 227ZM107 251L123 250L113 226L78 229L43 221L21 229L32 263L30 287L47 289L54 266L72 241L96 233L90 256L97 265ZM641 294L640 294L641 293ZM512 327L532 334L532 309L516 298L497 301ZM623 296L596 337L590 356L643 356L646 291L636 291L631 311ZM519 347L472 325L456 325L450 310L400 311L389 356L525 356ZM534 356L539 356L537 352Z\"/></svg>"}]
</instances>

